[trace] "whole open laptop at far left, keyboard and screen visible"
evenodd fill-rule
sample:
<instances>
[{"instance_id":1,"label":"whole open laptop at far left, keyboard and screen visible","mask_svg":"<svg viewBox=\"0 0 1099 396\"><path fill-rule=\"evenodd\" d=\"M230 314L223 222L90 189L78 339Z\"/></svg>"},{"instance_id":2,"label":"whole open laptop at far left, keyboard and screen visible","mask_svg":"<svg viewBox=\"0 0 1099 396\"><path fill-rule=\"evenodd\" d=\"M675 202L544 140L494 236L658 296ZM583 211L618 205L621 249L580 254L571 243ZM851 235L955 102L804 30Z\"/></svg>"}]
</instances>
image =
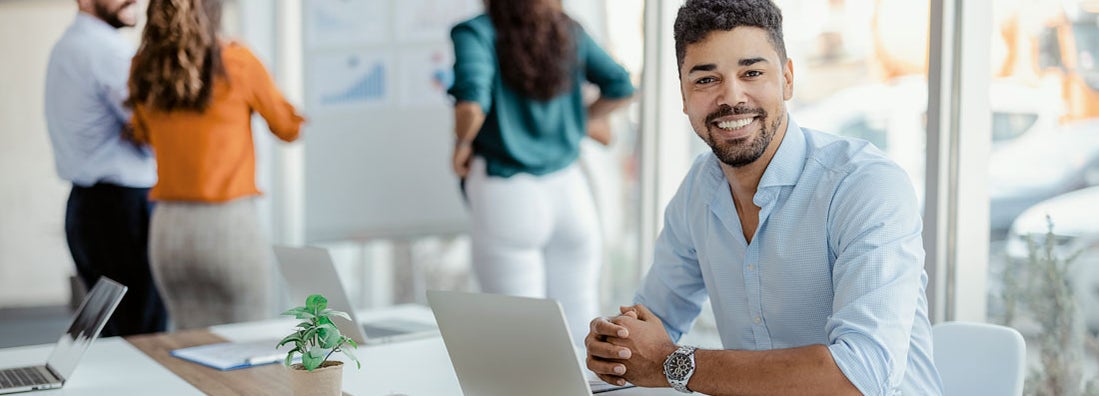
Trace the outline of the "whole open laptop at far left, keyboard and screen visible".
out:
<instances>
[{"instance_id":1,"label":"whole open laptop at far left, keyboard and screen visible","mask_svg":"<svg viewBox=\"0 0 1099 396\"><path fill-rule=\"evenodd\" d=\"M100 276L73 316L68 331L57 340L46 364L0 370L0 394L64 386L125 294L125 286Z\"/></svg>"}]
</instances>

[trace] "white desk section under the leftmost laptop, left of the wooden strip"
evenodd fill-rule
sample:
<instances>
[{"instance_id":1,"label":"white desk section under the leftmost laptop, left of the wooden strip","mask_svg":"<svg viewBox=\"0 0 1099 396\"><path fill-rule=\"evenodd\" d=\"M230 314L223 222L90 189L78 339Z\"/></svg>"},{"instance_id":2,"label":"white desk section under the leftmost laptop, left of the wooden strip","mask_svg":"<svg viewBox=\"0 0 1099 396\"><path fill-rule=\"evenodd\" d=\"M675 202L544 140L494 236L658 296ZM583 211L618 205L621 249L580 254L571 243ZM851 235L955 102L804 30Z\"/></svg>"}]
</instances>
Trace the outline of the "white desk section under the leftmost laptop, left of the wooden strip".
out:
<instances>
[{"instance_id":1,"label":"white desk section under the leftmost laptop, left of the wooden strip","mask_svg":"<svg viewBox=\"0 0 1099 396\"><path fill-rule=\"evenodd\" d=\"M53 344L0 349L0 366L43 364ZM37 395L35 393L34 395ZM186 381L119 337L96 340L73 377L42 395L201 395Z\"/></svg>"}]
</instances>

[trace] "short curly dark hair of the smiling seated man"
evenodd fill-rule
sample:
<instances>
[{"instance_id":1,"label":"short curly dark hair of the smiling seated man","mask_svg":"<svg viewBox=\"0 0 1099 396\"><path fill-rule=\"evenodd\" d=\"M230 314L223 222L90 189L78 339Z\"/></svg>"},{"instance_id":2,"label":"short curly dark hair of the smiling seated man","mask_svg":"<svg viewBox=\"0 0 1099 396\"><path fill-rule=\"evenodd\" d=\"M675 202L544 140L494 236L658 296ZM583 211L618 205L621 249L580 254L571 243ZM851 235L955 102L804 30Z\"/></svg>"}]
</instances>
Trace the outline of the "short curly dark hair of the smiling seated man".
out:
<instances>
[{"instance_id":1,"label":"short curly dark hair of the smiling seated man","mask_svg":"<svg viewBox=\"0 0 1099 396\"><path fill-rule=\"evenodd\" d=\"M770 44L786 63L782 40L782 11L771 0L687 0L676 15L676 61L684 65L687 46L706 38L713 31L731 31L739 26L766 30Z\"/></svg>"}]
</instances>

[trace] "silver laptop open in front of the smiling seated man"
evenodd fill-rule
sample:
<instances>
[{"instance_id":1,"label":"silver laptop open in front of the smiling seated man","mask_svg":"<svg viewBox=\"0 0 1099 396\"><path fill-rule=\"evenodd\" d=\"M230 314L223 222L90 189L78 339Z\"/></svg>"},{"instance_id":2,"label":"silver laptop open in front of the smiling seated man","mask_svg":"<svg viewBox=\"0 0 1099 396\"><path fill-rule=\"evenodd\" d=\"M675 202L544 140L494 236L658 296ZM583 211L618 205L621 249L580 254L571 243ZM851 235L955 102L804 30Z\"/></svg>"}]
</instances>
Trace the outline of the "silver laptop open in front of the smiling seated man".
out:
<instances>
[{"instance_id":1,"label":"silver laptop open in front of the smiling seated man","mask_svg":"<svg viewBox=\"0 0 1099 396\"><path fill-rule=\"evenodd\" d=\"M466 395L590 396L615 386L589 378L554 299L428 290Z\"/></svg>"}]
</instances>

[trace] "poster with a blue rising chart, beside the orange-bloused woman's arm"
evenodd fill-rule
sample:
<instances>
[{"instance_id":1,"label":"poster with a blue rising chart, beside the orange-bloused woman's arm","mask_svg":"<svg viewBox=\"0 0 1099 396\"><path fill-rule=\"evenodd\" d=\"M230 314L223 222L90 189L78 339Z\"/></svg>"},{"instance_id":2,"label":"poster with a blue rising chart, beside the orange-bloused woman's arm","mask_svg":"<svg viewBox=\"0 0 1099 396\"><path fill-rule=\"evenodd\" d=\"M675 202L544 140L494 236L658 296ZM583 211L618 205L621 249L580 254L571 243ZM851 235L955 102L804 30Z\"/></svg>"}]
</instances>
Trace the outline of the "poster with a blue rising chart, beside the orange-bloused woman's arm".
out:
<instances>
[{"instance_id":1,"label":"poster with a blue rising chart, beside the orange-bloused woman's arm","mask_svg":"<svg viewBox=\"0 0 1099 396\"><path fill-rule=\"evenodd\" d=\"M392 100L392 59L386 52L317 55L310 63L307 96L313 112L378 108Z\"/></svg>"}]
</instances>

